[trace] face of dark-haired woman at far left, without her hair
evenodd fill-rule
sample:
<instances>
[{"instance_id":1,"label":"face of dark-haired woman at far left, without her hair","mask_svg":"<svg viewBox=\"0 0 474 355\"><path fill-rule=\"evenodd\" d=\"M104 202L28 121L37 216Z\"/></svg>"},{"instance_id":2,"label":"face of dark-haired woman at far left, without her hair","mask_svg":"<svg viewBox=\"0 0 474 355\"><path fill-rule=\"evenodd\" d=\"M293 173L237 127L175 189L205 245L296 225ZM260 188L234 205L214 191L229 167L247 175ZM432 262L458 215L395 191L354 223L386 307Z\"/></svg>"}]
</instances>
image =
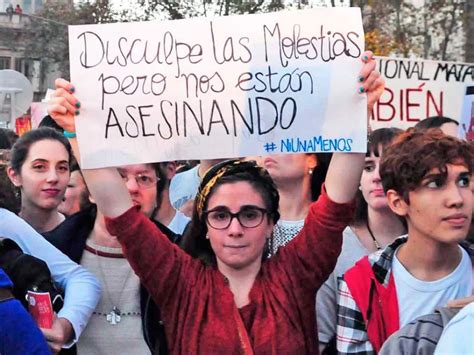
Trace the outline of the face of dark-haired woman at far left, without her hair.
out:
<instances>
[{"instance_id":1,"label":"face of dark-haired woman at far left, without her hair","mask_svg":"<svg viewBox=\"0 0 474 355\"><path fill-rule=\"evenodd\" d=\"M9 170L10 178L21 188L22 205L55 209L61 203L69 182L69 155L58 141L45 139L30 146L19 173Z\"/></svg>"}]
</instances>

